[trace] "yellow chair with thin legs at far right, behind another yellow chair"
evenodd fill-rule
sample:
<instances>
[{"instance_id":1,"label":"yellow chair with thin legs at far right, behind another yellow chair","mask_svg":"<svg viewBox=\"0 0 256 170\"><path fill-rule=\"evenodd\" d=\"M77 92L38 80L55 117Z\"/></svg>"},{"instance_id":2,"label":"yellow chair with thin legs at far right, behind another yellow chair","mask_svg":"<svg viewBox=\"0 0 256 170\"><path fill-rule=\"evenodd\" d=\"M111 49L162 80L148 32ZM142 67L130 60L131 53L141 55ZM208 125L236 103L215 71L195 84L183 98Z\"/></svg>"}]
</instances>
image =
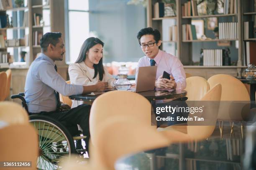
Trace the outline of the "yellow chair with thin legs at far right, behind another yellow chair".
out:
<instances>
[{"instance_id":1,"label":"yellow chair with thin legs at far right, behind another yellow chair","mask_svg":"<svg viewBox=\"0 0 256 170\"><path fill-rule=\"evenodd\" d=\"M230 121L230 137L234 134L233 121L243 121L250 119L250 96L244 84L233 76L227 74L217 74L208 80L210 89L216 84L221 84L221 104L218 115L220 136L223 136L223 120ZM237 101L237 102L236 102ZM241 135L243 137L243 124L241 123Z\"/></svg>"}]
</instances>

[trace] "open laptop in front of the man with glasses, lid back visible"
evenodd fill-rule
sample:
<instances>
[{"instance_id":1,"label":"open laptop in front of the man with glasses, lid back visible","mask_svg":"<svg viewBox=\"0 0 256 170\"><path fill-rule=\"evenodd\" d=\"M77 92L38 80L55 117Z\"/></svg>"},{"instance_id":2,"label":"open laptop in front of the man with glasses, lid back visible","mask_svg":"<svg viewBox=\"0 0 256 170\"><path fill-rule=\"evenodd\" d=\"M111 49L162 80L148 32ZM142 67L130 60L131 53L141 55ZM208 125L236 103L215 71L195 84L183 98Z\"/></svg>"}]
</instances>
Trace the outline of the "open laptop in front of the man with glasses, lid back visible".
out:
<instances>
[{"instance_id":1,"label":"open laptop in front of the man with glasses, lid back visible","mask_svg":"<svg viewBox=\"0 0 256 170\"><path fill-rule=\"evenodd\" d=\"M135 92L154 90L156 81L156 69L157 66L146 66L138 68Z\"/></svg>"}]
</instances>

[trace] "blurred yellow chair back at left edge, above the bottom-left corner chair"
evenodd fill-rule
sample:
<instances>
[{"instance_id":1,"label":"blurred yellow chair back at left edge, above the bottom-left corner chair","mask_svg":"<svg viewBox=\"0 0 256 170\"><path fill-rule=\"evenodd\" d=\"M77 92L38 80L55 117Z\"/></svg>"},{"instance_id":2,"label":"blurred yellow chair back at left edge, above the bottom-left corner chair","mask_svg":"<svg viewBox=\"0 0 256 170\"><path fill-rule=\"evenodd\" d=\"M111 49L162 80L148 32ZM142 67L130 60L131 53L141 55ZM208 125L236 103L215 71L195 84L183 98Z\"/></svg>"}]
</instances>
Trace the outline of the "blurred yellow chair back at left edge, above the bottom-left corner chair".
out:
<instances>
[{"instance_id":1,"label":"blurred yellow chair back at left edge, above the bottom-left corner chair","mask_svg":"<svg viewBox=\"0 0 256 170\"><path fill-rule=\"evenodd\" d=\"M28 124L28 114L20 104L3 101L0 102L0 120L8 124Z\"/></svg>"}]
</instances>

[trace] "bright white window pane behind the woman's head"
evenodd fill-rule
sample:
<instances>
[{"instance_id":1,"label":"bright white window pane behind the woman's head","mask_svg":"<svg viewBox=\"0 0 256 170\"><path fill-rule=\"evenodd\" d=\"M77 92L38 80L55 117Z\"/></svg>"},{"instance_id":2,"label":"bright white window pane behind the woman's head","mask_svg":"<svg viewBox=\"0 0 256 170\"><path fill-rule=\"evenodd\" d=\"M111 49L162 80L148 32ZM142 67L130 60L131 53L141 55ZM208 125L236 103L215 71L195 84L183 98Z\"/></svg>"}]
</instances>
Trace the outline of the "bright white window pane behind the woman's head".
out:
<instances>
[{"instance_id":1,"label":"bright white window pane behind the woman's head","mask_svg":"<svg viewBox=\"0 0 256 170\"><path fill-rule=\"evenodd\" d=\"M65 0L66 61L74 63L89 37L89 0Z\"/></svg>"}]
</instances>

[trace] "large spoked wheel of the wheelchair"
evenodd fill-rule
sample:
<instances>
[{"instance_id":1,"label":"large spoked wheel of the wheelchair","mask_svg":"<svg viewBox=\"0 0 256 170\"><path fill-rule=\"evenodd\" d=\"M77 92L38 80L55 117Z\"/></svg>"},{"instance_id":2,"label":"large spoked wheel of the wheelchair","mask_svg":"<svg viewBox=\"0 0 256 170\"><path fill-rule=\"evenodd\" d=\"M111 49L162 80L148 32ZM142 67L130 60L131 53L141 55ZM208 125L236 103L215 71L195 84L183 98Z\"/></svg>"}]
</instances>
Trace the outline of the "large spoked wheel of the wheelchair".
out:
<instances>
[{"instance_id":1,"label":"large spoked wheel of the wheelchair","mask_svg":"<svg viewBox=\"0 0 256 170\"><path fill-rule=\"evenodd\" d=\"M39 137L39 170L56 170L59 159L75 153L74 140L58 121L44 115L31 115L29 122L35 127Z\"/></svg>"}]
</instances>

